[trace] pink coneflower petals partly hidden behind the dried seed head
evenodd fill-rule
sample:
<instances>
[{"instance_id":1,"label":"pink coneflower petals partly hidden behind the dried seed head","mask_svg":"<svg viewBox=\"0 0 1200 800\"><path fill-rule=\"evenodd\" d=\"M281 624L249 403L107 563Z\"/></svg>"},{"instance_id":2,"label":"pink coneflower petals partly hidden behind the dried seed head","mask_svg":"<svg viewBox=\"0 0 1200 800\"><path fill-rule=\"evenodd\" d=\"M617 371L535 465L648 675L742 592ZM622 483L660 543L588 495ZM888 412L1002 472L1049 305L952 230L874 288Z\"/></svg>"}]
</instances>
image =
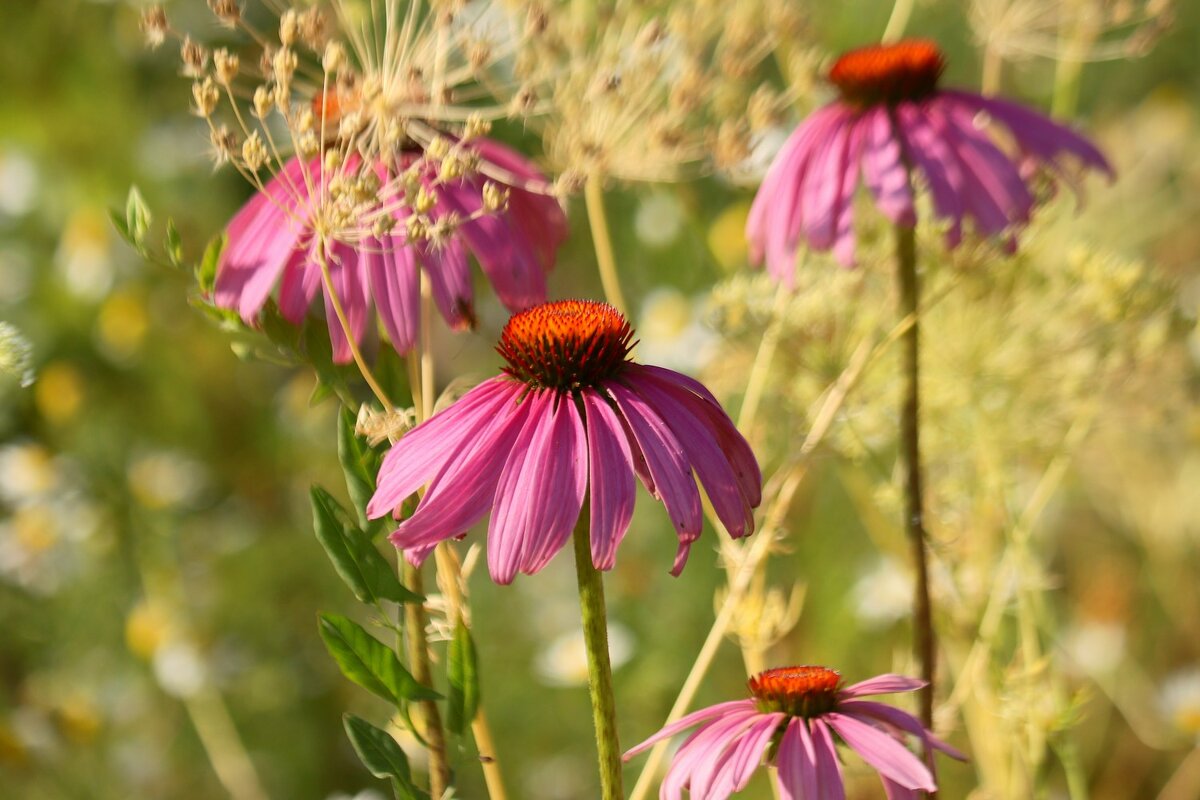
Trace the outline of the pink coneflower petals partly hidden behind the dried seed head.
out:
<instances>
[{"instance_id":1,"label":"pink coneflower petals partly hidden behind the dried seed head","mask_svg":"<svg viewBox=\"0 0 1200 800\"><path fill-rule=\"evenodd\" d=\"M420 270L446 323L474 324L468 251L510 311L544 301L566 218L554 198L522 186L545 178L486 138L449 146L450 158L406 152L392 168L353 155L334 166L288 161L229 223L216 305L252 324L278 283L280 312L300 324L320 291L334 360L346 362L352 350L323 290L322 260L355 343L367 336L373 306L401 354L416 342ZM446 176L448 161L458 174Z\"/></svg>"}]
</instances>

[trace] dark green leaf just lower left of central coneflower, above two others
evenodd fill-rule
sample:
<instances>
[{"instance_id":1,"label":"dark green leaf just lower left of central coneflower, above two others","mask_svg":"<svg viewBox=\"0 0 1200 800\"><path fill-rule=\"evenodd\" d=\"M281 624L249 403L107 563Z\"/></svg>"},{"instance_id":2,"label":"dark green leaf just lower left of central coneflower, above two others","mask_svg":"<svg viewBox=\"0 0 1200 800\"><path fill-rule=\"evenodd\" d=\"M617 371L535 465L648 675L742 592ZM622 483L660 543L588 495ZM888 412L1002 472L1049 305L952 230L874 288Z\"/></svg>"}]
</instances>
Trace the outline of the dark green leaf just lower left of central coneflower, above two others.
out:
<instances>
[{"instance_id":1,"label":"dark green leaf just lower left of central coneflower, above two others","mask_svg":"<svg viewBox=\"0 0 1200 800\"><path fill-rule=\"evenodd\" d=\"M347 522L346 511L329 492L314 486L310 497L317 540L355 597L365 603L378 600L413 603L425 600L404 588L388 559L376 549L366 534Z\"/></svg>"}]
</instances>

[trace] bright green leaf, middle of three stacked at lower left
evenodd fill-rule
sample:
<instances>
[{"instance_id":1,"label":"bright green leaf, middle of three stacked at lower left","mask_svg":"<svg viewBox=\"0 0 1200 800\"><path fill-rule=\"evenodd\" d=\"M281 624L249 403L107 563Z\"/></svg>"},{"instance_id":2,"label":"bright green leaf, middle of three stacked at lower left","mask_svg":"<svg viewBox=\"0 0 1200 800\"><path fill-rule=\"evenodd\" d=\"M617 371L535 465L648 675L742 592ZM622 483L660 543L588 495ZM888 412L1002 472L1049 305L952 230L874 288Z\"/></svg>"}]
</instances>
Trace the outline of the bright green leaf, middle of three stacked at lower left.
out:
<instances>
[{"instance_id":1,"label":"bright green leaf, middle of three stacked at lower left","mask_svg":"<svg viewBox=\"0 0 1200 800\"><path fill-rule=\"evenodd\" d=\"M442 696L416 682L396 654L361 625L340 614L320 614L320 638L342 674L392 705Z\"/></svg>"}]
</instances>

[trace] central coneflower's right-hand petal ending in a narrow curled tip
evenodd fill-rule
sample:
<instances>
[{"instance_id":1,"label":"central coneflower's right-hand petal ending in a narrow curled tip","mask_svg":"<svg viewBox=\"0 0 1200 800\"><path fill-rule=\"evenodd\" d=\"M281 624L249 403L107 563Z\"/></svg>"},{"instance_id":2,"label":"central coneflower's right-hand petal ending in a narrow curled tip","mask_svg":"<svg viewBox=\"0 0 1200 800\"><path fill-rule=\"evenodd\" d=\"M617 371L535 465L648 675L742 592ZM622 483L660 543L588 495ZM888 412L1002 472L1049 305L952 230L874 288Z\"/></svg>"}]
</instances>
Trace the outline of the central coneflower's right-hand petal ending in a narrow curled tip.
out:
<instances>
[{"instance_id":1,"label":"central coneflower's right-hand petal ending in a narrow curled tip","mask_svg":"<svg viewBox=\"0 0 1200 800\"><path fill-rule=\"evenodd\" d=\"M691 542L700 537L703 519L700 492L684 458L683 446L671 433L667 423L641 397L614 381L606 381L604 387L612 395L618 410L634 432L637 446L654 477L658 497L674 524L676 535L679 537L679 552L676 554L671 575L678 576L688 560Z\"/></svg>"}]
</instances>

